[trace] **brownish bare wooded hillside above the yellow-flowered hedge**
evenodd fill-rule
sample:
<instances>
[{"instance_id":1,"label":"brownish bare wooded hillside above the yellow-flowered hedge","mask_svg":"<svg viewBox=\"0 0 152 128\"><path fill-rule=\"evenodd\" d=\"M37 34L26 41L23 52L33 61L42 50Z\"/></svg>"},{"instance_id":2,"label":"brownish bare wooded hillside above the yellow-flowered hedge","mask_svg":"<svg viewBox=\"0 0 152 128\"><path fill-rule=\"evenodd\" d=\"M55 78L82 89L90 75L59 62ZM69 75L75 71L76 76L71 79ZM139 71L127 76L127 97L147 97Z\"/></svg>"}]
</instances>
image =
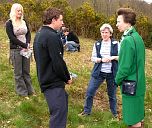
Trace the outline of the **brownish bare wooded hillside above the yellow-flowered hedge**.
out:
<instances>
[{"instance_id":1,"label":"brownish bare wooded hillside above the yellow-flowered hedge","mask_svg":"<svg viewBox=\"0 0 152 128\"><path fill-rule=\"evenodd\" d=\"M96 12L106 16L115 14L120 7L131 7L137 14L144 14L152 20L152 3L148 4L144 0L68 0L72 8L78 8L83 2L91 3Z\"/></svg>"}]
</instances>

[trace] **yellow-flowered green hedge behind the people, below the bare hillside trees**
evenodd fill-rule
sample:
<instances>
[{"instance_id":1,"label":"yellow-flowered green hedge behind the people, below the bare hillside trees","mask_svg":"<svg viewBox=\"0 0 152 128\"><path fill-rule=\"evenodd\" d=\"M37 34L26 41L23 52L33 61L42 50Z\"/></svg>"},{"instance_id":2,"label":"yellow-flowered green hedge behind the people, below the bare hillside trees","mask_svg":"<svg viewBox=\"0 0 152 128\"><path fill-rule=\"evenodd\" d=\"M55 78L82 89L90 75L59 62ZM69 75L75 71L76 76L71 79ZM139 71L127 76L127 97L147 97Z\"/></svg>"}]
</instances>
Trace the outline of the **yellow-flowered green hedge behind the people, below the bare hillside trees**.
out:
<instances>
[{"instance_id":1,"label":"yellow-flowered green hedge behind the people, below the bare hillside trees","mask_svg":"<svg viewBox=\"0 0 152 128\"><path fill-rule=\"evenodd\" d=\"M48 7L57 7L64 12L64 23L78 35L98 39L99 28L103 23L110 23L114 29L114 37L120 39L121 33L116 28L116 15L106 17L96 13L89 3L83 3L79 8L72 9L66 0L14 0L24 7L25 19L32 31L37 31L42 25L42 13ZM9 11L13 2L0 4L0 20L5 22L9 18ZM152 23L148 17L139 14L136 28L143 37L145 46L152 48Z\"/></svg>"}]
</instances>

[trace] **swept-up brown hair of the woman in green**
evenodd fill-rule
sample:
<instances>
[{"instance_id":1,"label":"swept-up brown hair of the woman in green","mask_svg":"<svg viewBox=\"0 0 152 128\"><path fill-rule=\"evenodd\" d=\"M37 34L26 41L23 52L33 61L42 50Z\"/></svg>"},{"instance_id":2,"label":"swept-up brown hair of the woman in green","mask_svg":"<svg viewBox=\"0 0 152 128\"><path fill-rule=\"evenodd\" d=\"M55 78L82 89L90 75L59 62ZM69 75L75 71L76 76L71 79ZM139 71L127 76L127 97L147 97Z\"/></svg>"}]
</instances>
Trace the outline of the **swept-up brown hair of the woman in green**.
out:
<instances>
[{"instance_id":1,"label":"swept-up brown hair of the woman in green","mask_svg":"<svg viewBox=\"0 0 152 128\"><path fill-rule=\"evenodd\" d=\"M120 8L117 11L117 15L122 15L125 23L130 23L131 25L136 24L136 14L130 8Z\"/></svg>"}]
</instances>

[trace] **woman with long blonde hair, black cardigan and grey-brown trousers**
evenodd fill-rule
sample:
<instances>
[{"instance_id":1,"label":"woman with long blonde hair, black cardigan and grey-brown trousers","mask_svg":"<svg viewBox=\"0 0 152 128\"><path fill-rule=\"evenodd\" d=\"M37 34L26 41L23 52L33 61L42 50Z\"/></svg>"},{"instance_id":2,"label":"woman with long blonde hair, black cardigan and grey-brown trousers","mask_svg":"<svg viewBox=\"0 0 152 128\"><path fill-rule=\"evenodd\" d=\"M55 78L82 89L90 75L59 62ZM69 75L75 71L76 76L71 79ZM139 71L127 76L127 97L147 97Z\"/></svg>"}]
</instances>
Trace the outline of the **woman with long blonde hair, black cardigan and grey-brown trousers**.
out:
<instances>
[{"instance_id":1,"label":"woman with long blonde hair, black cardigan and grey-brown trousers","mask_svg":"<svg viewBox=\"0 0 152 128\"><path fill-rule=\"evenodd\" d=\"M6 22L6 33L10 42L10 59L14 67L16 93L29 99L34 94L30 77L30 59L20 54L21 50L28 50L31 33L23 19L23 7L15 3L11 7L10 19Z\"/></svg>"}]
</instances>

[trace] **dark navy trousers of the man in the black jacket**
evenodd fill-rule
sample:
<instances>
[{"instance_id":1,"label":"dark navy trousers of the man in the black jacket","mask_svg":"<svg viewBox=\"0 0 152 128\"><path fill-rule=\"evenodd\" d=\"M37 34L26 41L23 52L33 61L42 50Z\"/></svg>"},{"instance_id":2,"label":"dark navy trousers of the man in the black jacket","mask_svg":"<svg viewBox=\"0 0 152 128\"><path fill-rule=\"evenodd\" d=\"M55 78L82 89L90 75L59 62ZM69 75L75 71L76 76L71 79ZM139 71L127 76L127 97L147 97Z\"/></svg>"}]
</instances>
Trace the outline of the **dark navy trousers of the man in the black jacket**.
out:
<instances>
[{"instance_id":1,"label":"dark navy trousers of the man in the black jacket","mask_svg":"<svg viewBox=\"0 0 152 128\"><path fill-rule=\"evenodd\" d=\"M68 113L68 94L64 88L53 88L44 91L49 112L49 128L66 128Z\"/></svg>"}]
</instances>

